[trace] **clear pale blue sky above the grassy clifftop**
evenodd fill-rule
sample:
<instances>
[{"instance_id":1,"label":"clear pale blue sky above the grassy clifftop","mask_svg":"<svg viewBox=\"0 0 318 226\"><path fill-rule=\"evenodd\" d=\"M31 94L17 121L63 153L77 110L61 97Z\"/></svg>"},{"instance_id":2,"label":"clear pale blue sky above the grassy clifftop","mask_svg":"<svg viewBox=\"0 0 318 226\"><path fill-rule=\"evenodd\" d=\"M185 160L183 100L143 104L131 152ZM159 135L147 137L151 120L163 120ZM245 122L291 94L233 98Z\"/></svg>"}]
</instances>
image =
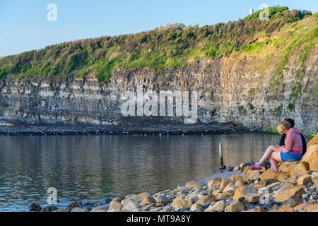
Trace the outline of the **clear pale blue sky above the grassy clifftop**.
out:
<instances>
[{"instance_id":1,"label":"clear pale blue sky above the grassy clifftop","mask_svg":"<svg viewBox=\"0 0 318 226\"><path fill-rule=\"evenodd\" d=\"M47 20L48 4L57 21ZM318 11L317 0L0 0L0 57L47 45L152 30L168 23L212 25L245 18L260 4Z\"/></svg>"}]
</instances>

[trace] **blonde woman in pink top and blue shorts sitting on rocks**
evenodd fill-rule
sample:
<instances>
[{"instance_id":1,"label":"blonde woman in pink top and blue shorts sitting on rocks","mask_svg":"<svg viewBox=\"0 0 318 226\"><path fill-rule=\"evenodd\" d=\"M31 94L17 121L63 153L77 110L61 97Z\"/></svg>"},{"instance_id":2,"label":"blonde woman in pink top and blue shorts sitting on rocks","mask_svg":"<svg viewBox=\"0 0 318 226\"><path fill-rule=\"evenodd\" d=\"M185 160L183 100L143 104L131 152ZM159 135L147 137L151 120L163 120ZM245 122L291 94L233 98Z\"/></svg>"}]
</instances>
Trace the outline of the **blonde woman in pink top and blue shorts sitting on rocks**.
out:
<instances>
[{"instance_id":1,"label":"blonde woman in pink top and blue shorts sitting on rocks","mask_svg":"<svg viewBox=\"0 0 318 226\"><path fill-rule=\"evenodd\" d=\"M261 165L269 158L271 169L278 172L278 162L290 162L302 158L302 138L300 136L300 130L295 127L291 128L289 122L285 120L278 124L277 130L281 134L286 134L285 145L270 145L259 162L254 163L249 169L261 169Z\"/></svg>"}]
</instances>

